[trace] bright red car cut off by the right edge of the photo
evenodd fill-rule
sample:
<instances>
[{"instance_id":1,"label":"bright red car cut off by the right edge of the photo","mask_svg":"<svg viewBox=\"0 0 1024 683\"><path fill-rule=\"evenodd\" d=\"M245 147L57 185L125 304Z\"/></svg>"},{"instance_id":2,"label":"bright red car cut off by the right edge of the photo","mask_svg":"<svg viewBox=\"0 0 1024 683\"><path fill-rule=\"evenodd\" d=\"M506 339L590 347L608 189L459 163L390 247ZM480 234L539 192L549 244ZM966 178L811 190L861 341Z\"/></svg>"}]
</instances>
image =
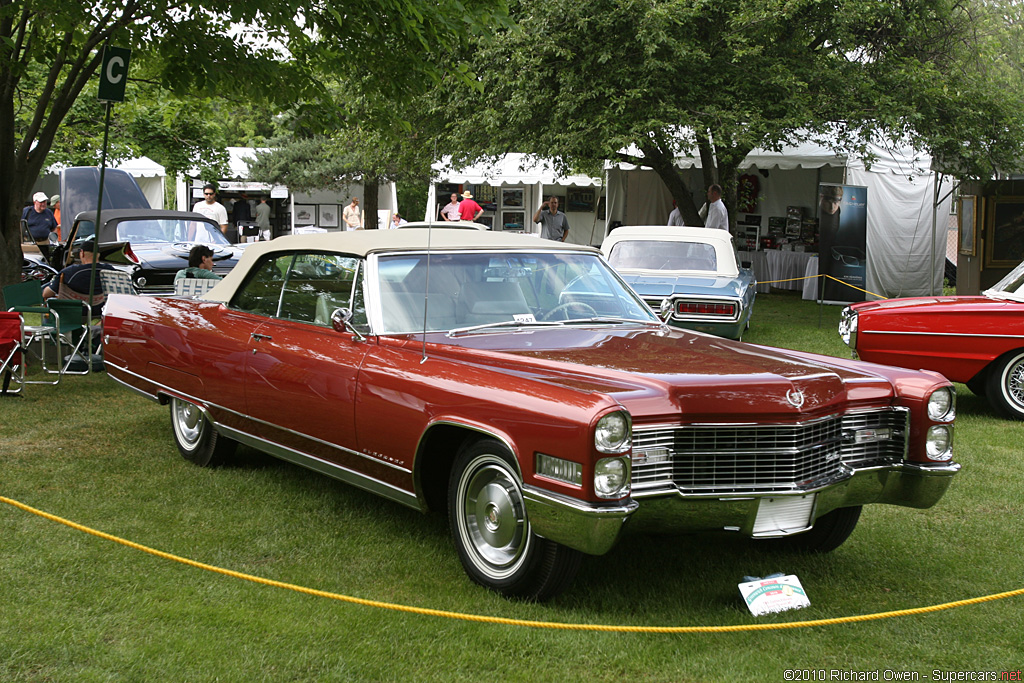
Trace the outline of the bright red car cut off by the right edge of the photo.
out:
<instances>
[{"instance_id":1,"label":"bright red car cut off by the right edge of the photo","mask_svg":"<svg viewBox=\"0 0 1024 683\"><path fill-rule=\"evenodd\" d=\"M941 373L1024 420L1024 263L981 296L853 304L839 331L864 360Z\"/></svg>"}]
</instances>

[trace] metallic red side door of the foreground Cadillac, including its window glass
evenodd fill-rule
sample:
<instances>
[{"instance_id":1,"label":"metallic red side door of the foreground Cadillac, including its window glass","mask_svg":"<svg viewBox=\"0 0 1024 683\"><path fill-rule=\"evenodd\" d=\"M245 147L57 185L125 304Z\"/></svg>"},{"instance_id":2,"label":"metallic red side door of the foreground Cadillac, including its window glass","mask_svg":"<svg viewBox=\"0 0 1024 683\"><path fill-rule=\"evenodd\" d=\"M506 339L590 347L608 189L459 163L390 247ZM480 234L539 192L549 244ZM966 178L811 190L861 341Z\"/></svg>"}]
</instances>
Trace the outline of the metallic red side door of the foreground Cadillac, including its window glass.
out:
<instances>
[{"instance_id":1,"label":"metallic red side door of the foreground Cadillac, including its window glass","mask_svg":"<svg viewBox=\"0 0 1024 683\"><path fill-rule=\"evenodd\" d=\"M359 272L354 257L279 256L254 278L270 283L264 289L276 291L276 301L240 299L240 306L262 306L267 313L253 332L246 364L246 409L259 436L346 467L366 460L356 452L355 394L372 343L334 330L331 313L351 308L354 322L365 322L361 289L353 288Z\"/></svg>"}]
</instances>

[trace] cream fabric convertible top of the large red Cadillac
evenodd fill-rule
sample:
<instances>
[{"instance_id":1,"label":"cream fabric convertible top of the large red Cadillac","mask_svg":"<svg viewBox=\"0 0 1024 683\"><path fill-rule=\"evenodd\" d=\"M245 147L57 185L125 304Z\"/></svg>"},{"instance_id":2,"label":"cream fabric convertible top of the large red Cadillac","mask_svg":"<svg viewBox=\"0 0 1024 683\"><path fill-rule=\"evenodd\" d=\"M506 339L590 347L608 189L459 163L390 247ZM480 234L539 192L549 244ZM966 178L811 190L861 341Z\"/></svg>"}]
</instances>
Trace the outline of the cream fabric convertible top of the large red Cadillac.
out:
<instances>
[{"instance_id":1,"label":"cream fabric convertible top of the large red Cadillac","mask_svg":"<svg viewBox=\"0 0 1024 683\"><path fill-rule=\"evenodd\" d=\"M520 250L520 251L586 251L600 253L593 247L566 244L552 240L542 240L536 236L493 232L467 229L397 229L397 230L351 230L339 232L315 232L311 234L290 234L269 242L249 245L239 264L231 268L217 286L207 292L202 299L226 303L234 296L246 274L260 258L266 254L316 251L348 256L366 257L375 252L452 250Z\"/></svg>"}]
</instances>

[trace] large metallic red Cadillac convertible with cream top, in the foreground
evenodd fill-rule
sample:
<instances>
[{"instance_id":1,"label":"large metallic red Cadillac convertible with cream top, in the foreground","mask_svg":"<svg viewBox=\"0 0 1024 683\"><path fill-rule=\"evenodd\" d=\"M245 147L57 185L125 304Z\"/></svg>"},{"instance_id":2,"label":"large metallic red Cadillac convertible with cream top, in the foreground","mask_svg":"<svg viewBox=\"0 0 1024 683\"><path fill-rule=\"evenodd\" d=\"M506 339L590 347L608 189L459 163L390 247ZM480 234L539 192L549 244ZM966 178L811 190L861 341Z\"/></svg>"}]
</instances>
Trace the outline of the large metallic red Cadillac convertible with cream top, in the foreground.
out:
<instances>
[{"instance_id":1,"label":"large metallic red Cadillac convertible with cream top, in the foreground","mask_svg":"<svg viewBox=\"0 0 1024 683\"><path fill-rule=\"evenodd\" d=\"M446 512L469 577L528 599L626 532L828 551L959 469L942 377L670 328L597 250L526 236L280 238L202 298L112 295L103 335L186 459L241 442Z\"/></svg>"}]
</instances>

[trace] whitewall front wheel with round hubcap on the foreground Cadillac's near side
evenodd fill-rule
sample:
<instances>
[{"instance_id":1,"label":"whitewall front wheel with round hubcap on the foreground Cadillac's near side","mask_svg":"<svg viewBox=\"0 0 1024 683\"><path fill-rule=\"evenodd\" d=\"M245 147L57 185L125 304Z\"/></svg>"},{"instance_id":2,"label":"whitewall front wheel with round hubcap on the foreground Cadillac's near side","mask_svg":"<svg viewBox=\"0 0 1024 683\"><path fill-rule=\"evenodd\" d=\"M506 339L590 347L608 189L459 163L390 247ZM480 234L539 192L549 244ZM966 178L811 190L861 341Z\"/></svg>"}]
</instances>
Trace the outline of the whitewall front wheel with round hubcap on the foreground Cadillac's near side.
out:
<instances>
[{"instance_id":1,"label":"whitewall front wheel with round hubcap on the foreground Cadillac's near side","mask_svg":"<svg viewBox=\"0 0 1024 683\"><path fill-rule=\"evenodd\" d=\"M449 482L452 538L475 583L509 597L548 600L569 587L582 555L530 530L512 463L493 439L463 449Z\"/></svg>"}]
</instances>

